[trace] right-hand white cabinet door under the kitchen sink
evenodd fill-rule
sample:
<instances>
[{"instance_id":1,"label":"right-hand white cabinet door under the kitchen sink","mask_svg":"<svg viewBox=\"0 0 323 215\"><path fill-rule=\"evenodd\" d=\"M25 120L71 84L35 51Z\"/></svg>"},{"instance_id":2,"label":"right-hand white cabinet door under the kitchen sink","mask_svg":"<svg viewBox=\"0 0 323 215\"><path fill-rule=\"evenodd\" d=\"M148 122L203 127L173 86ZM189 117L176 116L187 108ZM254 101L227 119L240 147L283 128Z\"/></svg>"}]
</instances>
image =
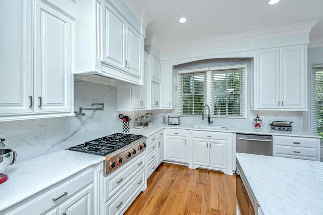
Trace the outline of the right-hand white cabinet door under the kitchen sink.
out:
<instances>
[{"instance_id":1,"label":"right-hand white cabinet door under the kitchen sink","mask_svg":"<svg viewBox=\"0 0 323 215\"><path fill-rule=\"evenodd\" d=\"M227 141L210 140L210 167L227 169Z\"/></svg>"}]
</instances>

